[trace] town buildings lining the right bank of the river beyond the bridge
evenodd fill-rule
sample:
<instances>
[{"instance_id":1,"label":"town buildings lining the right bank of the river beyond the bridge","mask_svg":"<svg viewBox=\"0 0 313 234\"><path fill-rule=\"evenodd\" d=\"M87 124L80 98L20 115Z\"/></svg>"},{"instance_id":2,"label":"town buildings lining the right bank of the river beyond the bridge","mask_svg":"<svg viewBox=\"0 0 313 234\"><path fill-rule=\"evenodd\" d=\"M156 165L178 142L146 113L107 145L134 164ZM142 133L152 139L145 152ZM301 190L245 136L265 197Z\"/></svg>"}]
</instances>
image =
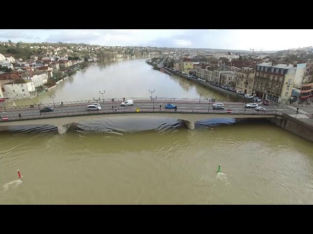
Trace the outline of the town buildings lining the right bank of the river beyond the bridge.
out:
<instances>
[{"instance_id":1,"label":"town buildings lining the right bank of the river beyond the bridge","mask_svg":"<svg viewBox=\"0 0 313 234\"><path fill-rule=\"evenodd\" d=\"M210 82L245 97L275 103L309 102L313 96L313 47L276 53L169 53L147 62Z\"/></svg>"}]
</instances>

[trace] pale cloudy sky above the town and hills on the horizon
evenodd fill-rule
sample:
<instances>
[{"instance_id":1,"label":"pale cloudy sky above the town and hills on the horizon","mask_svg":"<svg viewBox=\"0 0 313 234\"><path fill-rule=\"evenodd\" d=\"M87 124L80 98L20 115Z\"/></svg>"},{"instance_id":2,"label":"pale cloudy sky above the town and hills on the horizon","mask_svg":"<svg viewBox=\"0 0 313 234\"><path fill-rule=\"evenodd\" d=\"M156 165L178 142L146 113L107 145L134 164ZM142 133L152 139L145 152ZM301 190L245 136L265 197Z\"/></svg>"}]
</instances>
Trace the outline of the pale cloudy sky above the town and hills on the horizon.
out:
<instances>
[{"instance_id":1,"label":"pale cloudy sky above the town and hills on the horizon","mask_svg":"<svg viewBox=\"0 0 313 234\"><path fill-rule=\"evenodd\" d=\"M233 50L285 50L313 46L312 29L0 29L0 41L73 42Z\"/></svg>"}]
</instances>

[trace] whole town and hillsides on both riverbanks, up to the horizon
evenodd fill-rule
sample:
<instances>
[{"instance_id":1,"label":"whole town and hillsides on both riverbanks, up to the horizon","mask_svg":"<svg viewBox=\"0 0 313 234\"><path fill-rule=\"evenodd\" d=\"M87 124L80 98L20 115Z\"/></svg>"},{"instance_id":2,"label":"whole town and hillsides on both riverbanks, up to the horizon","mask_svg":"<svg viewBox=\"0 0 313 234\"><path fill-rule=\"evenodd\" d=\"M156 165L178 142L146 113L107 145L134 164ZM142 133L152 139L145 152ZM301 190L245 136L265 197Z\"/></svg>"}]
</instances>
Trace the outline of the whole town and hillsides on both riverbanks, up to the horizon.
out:
<instances>
[{"instance_id":1,"label":"whole town and hillsides on both riverbanks, up to the horizon","mask_svg":"<svg viewBox=\"0 0 313 234\"><path fill-rule=\"evenodd\" d=\"M0 42L0 98L6 105L34 98L90 63L122 58L150 58L225 90L277 103L311 101L313 96L312 46L268 52L9 40Z\"/></svg>"}]
</instances>

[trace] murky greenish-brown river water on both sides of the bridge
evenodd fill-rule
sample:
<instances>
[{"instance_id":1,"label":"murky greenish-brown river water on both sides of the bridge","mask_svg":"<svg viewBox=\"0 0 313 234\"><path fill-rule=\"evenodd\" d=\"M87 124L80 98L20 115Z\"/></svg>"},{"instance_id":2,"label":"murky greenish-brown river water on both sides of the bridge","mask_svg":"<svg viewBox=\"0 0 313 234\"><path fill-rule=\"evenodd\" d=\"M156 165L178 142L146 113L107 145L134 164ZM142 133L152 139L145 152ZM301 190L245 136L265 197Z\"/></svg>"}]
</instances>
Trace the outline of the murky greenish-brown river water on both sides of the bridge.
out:
<instances>
[{"instance_id":1,"label":"murky greenish-brown river water on both sides of the bridge","mask_svg":"<svg viewBox=\"0 0 313 234\"><path fill-rule=\"evenodd\" d=\"M224 98L144 61L90 66L53 92L63 101L100 87L107 98L149 89ZM63 135L36 125L0 132L0 204L313 204L312 181L312 142L267 120L201 120L189 130L173 118L110 117Z\"/></svg>"}]
</instances>

